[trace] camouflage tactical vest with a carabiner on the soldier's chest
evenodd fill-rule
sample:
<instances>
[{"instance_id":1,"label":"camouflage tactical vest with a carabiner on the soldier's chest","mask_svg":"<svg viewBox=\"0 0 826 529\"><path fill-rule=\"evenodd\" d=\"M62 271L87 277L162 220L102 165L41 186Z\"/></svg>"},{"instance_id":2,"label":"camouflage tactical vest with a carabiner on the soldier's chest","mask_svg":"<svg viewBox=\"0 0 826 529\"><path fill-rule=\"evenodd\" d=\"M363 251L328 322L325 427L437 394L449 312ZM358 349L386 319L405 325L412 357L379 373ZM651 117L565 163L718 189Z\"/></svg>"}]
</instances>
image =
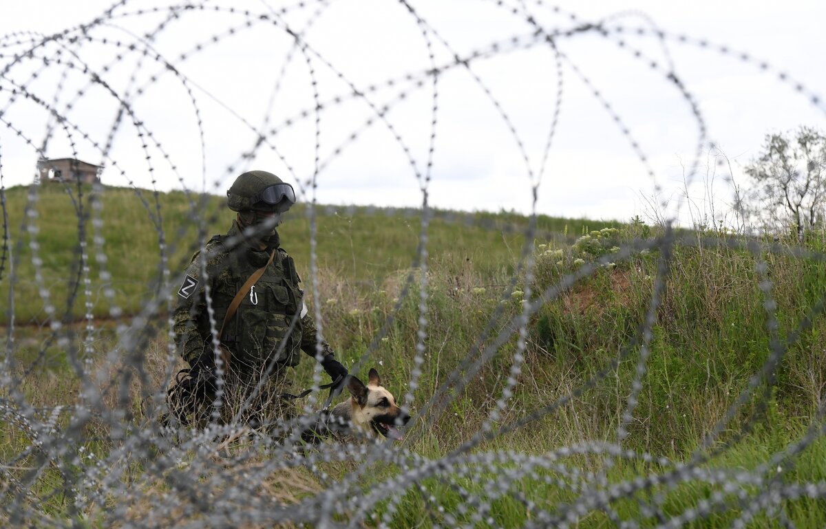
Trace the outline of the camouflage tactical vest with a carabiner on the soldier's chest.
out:
<instances>
[{"instance_id":1,"label":"camouflage tactical vest with a carabiner on the soldier's chest","mask_svg":"<svg viewBox=\"0 0 826 529\"><path fill-rule=\"evenodd\" d=\"M218 275L213 295L219 325L241 286L268 258L269 252L245 245L230 250L228 268ZM230 348L234 366L260 371L271 360L281 366L298 364L303 296L300 281L292 257L278 248L273 262L244 295L235 316L224 327L221 343Z\"/></svg>"}]
</instances>

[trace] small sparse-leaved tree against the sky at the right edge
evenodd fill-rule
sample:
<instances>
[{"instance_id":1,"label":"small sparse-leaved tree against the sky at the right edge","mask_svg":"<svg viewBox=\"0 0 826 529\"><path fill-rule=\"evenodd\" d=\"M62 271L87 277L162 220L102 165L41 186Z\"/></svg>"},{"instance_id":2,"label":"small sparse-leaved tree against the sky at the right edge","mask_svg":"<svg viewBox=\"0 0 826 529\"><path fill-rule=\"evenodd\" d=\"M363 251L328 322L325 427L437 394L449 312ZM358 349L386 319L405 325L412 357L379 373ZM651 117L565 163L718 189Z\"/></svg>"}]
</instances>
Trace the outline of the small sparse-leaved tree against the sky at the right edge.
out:
<instances>
[{"instance_id":1,"label":"small sparse-leaved tree against the sky at the right edge","mask_svg":"<svg viewBox=\"0 0 826 529\"><path fill-rule=\"evenodd\" d=\"M810 127L800 127L791 139L767 135L763 153L745 171L756 184L759 206L753 213L792 224L802 242L826 198L826 136Z\"/></svg>"}]
</instances>

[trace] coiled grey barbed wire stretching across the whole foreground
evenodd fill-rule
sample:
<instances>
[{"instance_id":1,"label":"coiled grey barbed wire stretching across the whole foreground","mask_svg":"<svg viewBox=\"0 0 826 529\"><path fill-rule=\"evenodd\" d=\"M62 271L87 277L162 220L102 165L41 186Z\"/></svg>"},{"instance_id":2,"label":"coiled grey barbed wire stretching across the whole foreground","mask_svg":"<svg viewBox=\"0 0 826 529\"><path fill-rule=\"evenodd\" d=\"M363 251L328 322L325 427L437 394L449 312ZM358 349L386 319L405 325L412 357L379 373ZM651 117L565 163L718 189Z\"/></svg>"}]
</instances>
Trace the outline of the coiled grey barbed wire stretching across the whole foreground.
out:
<instances>
[{"instance_id":1,"label":"coiled grey barbed wire stretching across the whole foreground","mask_svg":"<svg viewBox=\"0 0 826 529\"><path fill-rule=\"evenodd\" d=\"M335 7L329 0L278 8L267 2L244 2L240 8L230 2L207 0L149 8L133 8L133 4L140 2L121 0L88 24L53 35L16 31L0 39L0 97L4 97L0 106L0 279L7 293L3 313L6 351L0 368L0 521L12 527L77 527L84 523L100 527L263 527L273 523L314 527L408 527L420 523L434 527L572 527L587 525L586 519L596 516L618 527L681 527L723 516L733 527L746 527L765 516L778 526L795 527L790 512L797 503L805 498L823 501L826 481L822 475L814 473L814 479L805 473L789 477L790 469L800 465L801 456L822 442L826 429L822 394L806 418L802 434L784 438L782 446L772 447L761 461L752 461L753 465L743 469L729 464L724 455L763 426L774 405L777 371L783 368L787 352L814 327L826 308L826 295L815 293L805 314L789 327L794 330L784 336L769 260L822 263L824 253L722 231L718 237L686 234L667 222L660 232L635 233L620 246L580 267L566 269L546 284L539 282L540 267L547 265L543 264L544 253L538 251L540 243L554 248L570 246L578 235L544 229L538 215L540 191L547 192L550 185L543 181L553 174L553 149L563 135L561 116L571 97L572 79L582 83L609 116L655 193L662 191L662 175L657 174L649 149L635 135L628 116L619 111L609 91L598 86L586 68L564 50L572 40L586 35L600 39L655 73L660 82L656 90L676 91L696 126L686 187L698 177L700 160L712 136L701 101L677 73L681 64L670 46L690 46L755 66L771 73L773 82L790 87L793 95L805 98L812 109L826 114L826 105L814 89L728 45L672 34L644 13L585 21L543 0L480 2L523 26L510 38L491 38L470 51L454 45L453 35L437 31L415 2L400 0L398 9L415 28L415 50L423 52L425 66L414 66L401 74L379 72L381 78L368 82L347 73L346 65L337 64L317 45L314 31ZM624 20L632 16L640 17L643 26L625 25ZM179 42L170 45L176 32L193 27L185 26L187 23L197 26L207 20L213 25L207 28L210 35L197 38L195 44L188 40L183 51L175 48ZM246 96L240 88L238 100L228 101L219 95L221 81L202 82L195 75L197 70L188 71L188 66L198 59L219 57L221 45L238 35L258 35L254 31L265 31L272 38L268 40L272 54L262 55L262 61L275 55L283 59L278 68L266 64L275 72L272 90L263 115L250 117L238 110ZM638 38L636 45L629 43L630 35ZM647 41L656 47L645 47ZM482 68L486 61L526 50L549 51L552 58L550 67L536 66L553 72L553 91L548 94L551 110L544 116L548 118L547 133L543 132L544 141L535 157L528 141L533 134L520 129ZM291 68L301 68L306 79L290 78ZM468 86L482 92L496 114L496 126L515 145L529 184L528 218L493 218L434 208L432 184L437 158L451 149L439 130L450 120L444 79L459 72L467 74ZM44 86L42 79L50 76L56 76L56 83ZM148 95L164 86L168 78L183 90L185 108L168 104L164 99L167 92L157 100ZM305 95L304 102L289 101L290 90ZM400 113L414 97L426 100L424 132L392 119L394 112ZM286 108L276 104L278 99L289 101ZM112 106L105 107L104 101ZM96 110L83 111L90 103L97 105ZM211 136L230 129L207 111L211 105L225 111L244 134L237 133L227 141L230 148L221 156L211 154ZM364 114L347 120L346 133L336 138L341 118L335 111L349 105L358 106ZM104 108L113 111L111 119L102 116ZM159 112L169 116L191 113L194 146L184 142L179 149L176 140L180 138L169 139L164 134L170 120L159 118ZM35 115L42 121L33 119ZM279 146L287 144L290 135L299 135L301 127L310 130L305 145L309 163L305 160L303 164ZM317 191L325 187L322 175L349 149L367 144L376 130L386 133L392 148L398 149L420 193L420 205L320 205ZM420 144L416 138L425 141ZM386 147L382 144L382 149ZM69 267L56 269L43 253L44 223L39 207L49 192L44 190L55 186L52 182L32 183L26 188L24 210L10 210L7 160L13 149L24 149L27 155L43 160L42 168L47 170L59 169L57 162L50 161L53 150L63 149L73 159L93 153L106 168L104 174L111 184L131 190L157 241L157 255L145 256L145 262L157 266L149 276L140 307L122 306L124 302L113 287L114 281L135 278L118 276L121 271L112 267L116 249L105 234L107 223L120 212L109 209L109 187L100 180L86 187L79 178L78 182L69 178L59 183L75 215L64 222L76 224L77 241L73 242L72 256L66 259ZM188 158L190 152L197 153L197 161ZM221 364L216 300L208 287L211 349L218 367L216 408L204 427L164 421L169 413L167 389L178 371L171 315L173 291L183 281L183 270L173 256L202 250L211 226L225 216L224 211L212 210L216 201L211 193L222 191L226 182L245 168L265 161L280 168L279 173L296 184L306 202L303 212L310 234L306 281L314 301L311 311L319 351L331 323L322 309L325 271L319 258L323 249L319 247L320 220L358 214L418 222L416 249L408 256L409 266L399 281L396 299L371 328L366 344L354 352L355 361L349 366L351 374L364 377L368 366L387 359L382 344L399 333L400 322L411 322L411 337L405 340L412 343L411 352L400 364L408 374L403 385L406 390L396 395L404 412L411 415L406 427L396 424L406 430L405 442L348 437L307 446L301 434L318 420L324 400L318 363L307 377L312 392L296 416L278 418L265 427L244 423L243 413L222 421L228 373ZM192 175L198 175L197 180ZM166 210L162 200L161 187L173 181L176 189L183 190L187 209L178 224L170 220L170 214L177 212ZM149 190L142 187L146 183ZM20 222L19 227L11 224L13 220ZM513 234L518 236L515 240L520 248L484 323L464 329L476 333L468 350L460 352L453 365L439 366L437 360L437 375L429 380L423 368L434 361L438 345L432 329L438 308L434 292L439 285L434 284L431 265L431 234L437 222L456 224L457 229ZM644 413L640 402L652 369L650 362L662 354L657 350L655 333L672 295L670 281L675 268L681 267L681 252L692 249L749 256L754 263L753 286L762 304L767 346L758 369L748 374L736 398L726 402L726 409L714 417L703 436L697 436L683 458L673 451L638 450L629 441L634 423ZM635 322L636 332L618 347L615 357L577 380L575 386L558 391L537 388L530 394L523 382L526 371L534 367L532 355L537 346L532 333L542 311L606 269L633 269L646 255L656 256L656 272L643 296L646 308L640 313L641 320ZM211 257L207 252L200 254L198 264L204 274ZM31 278L21 276L30 270ZM21 339L31 342L31 331L17 317L20 291L27 281L35 290L24 291L36 292L43 315L35 332L33 355L24 351ZM65 291L55 288L58 284L65 285ZM105 300L105 316L96 315L96 291L102 292ZM60 306L59 294L66 296L65 309ZM511 303L515 298L519 301L516 305ZM83 326L80 333L75 326L78 321ZM291 328L296 324L297 317L292 318ZM24 330L26 333L21 332ZM107 339L102 339L104 336ZM62 384L69 385L69 378L74 380L76 394L61 390L47 394L45 388L36 387L41 380L40 368L55 354L55 347L71 371L64 374L67 378ZM152 347L161 353L151 357L148 351ZM628 366L633 369L629 371ZM438 371L439 367L446 371ZM446 424L468 426L451 424L445 415L451 406L480 406L464 402L461 395L483 372L491 371L493 383L487 388L491 394L477 410L480 419L475 429L464 431L458 442L439 440L437 429ZM628 387L619 390L618 382L615 410L606 419L611 432L607 438L598 432L582 432L584 437L562 445L545 439L522 445L512 441L519 436L531 439L540 425L565 413L611 378L620 380L623 375L628 375L623 381ZM265 383L260 380L255 385L241 406L242 412L253 405L254 397L266 392ZM514 399L525 399L522 413L512 412ZM325 404L330 404L327 400ZM618 467L622 468L615 471ZM634 470L634 475L629 475L628 469ZM686 494L676 506L669 503L674 494L691 487L708 492ZM519 513L505 519L506 511ZM416 519L411 521L411 517Z\"/></svg>"}]
</instances>

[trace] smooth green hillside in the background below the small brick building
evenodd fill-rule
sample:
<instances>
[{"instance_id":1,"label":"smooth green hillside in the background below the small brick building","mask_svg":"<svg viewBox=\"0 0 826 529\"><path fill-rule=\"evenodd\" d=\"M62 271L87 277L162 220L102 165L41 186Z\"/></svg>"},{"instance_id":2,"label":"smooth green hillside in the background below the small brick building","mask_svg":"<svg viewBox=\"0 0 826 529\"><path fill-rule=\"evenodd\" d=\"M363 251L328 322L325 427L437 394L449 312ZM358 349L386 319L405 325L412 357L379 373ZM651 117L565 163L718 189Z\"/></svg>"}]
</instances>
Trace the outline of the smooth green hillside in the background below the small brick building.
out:
<instances>
[{"instance_id":1,"label":"smooth green hillside in the background below the small brick building","mask_svg":"<svg viewBox=\"0 0 826 529\"><path fill-rule=\"evenodd\" d=\"M92 196L89 186L78 191L78 187L58 184L36 191L31 197L27 187L5 191L11 240L0 267L4 280L0 299L9 299L13 285L18 325L45 324L53 318L73 321L88 312L107 318L113 307L116 314L136 314L148 300L177 290L177 275L192 253L211 235L225 233L235 218L219 196L124 187L104 187ZM282 246L296 259L302 277L309 276L311 260L311 222L306 208L296 205L278 230ZM322 271L370 290L414 262L420 210L320 205L314 211L316 258ZM520 215L439 210L433 214L428 249L436 259L470 259L483 272L493 273L512 269L525 243L528 220ZM618 224L543 215L537 222L537 238L561 239L567 232L572 239L588 229L610 225ZM85 259L81 239L86 241ZM40 261L33 261L32 243L36 243ZM86 275L84 261L89 268ZM13 281L8 281L12 274ZM84 283L87 275L88 284ZM55 309L52 316L49 305ZM10 307L4 304L0 323L9 320L9 313Z\"/></svg>"}]
</instances>

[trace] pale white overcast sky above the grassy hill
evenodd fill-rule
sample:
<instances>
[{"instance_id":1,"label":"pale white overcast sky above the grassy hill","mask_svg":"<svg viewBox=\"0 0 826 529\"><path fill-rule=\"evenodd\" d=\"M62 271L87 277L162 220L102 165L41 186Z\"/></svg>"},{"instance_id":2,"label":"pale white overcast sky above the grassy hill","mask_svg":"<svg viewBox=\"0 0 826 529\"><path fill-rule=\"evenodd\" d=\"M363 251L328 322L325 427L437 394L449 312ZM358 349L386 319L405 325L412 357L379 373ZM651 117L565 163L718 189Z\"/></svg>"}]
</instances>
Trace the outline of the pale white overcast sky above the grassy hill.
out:
<instances>
[{"instance_id":1,"label":"pale white overcast sky above the grassy hill","mask_svg":"<svg viewBox=\"0 0 826 529\"><path fill-rule=\"evenodd\" d=\"M88 38L69 40L83 37L70 31L13 59L38 33L88 24L111 5L3 2L6 187L32 181L45 145L50 158L102 163L103 182L118 186L154 178L161 190L222 192L262 168L325 204L421 205L426 187L437 207L529 213L539 184L539 213L628 220L662 200L675 211L702 124L688 196L703 215L713 195L721 217L729 165L714 163L710 143L744 184L742 167L767 133L826 129L826 106L811 102L826 94L826 2L559 2L555 12L529 1L411 0L417 21L392 0L194 2L207 9L172 20L175 2L131 0ZM161 9L138 12L151 7ZM600 21L607 35L586 26ZM298 49L287 27L301 35ZM558 53L538 30L556 35ZM118 120L121 102L129 111Z\"/></svg>"}]
</instances>

